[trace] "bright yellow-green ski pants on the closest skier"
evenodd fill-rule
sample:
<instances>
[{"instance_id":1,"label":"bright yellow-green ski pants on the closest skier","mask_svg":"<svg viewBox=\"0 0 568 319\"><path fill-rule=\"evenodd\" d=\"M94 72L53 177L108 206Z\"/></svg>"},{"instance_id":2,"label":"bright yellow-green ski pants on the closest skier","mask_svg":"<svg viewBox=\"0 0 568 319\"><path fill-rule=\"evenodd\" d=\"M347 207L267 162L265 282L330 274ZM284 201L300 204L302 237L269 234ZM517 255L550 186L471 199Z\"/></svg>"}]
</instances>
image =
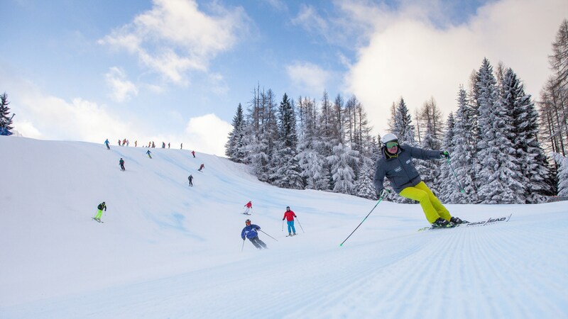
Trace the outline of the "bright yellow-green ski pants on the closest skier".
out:
<instances>
[{"instance_id":1,"label":"bright yellow-green ski pants on the closest skier","mask_svg":"<svg viewBox=\"0 0 568 319\"><path fill-rule=\"evenodd\" d=\"M419 201L420 206L422 206L422 211L424 211L426 219L430 223L434 223L439 217L448 221L449 218L452 218L447 208L440 203L439 199L423 181L420 181L420 183L416 186L410 186L403 189L403 191L400 191L399 195Z\"/></svg>"}]
</instances>

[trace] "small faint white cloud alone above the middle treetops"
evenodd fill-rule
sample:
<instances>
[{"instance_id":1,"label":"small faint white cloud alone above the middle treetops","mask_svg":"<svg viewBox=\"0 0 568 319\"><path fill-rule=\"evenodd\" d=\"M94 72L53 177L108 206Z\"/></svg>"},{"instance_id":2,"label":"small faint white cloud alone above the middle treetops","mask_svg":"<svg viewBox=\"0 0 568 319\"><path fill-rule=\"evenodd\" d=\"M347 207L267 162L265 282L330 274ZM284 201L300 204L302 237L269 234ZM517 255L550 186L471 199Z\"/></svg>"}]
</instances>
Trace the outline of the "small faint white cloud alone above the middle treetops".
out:
<instances>
[{"instance_id":1,"label":"small faint white cloud alone above the middle treetops","mask_svg":"<svg viewBox=\"0 0 568 319\"><path fill-rule=\"evenodd\" d=\"M295 62L286 67L296 89L302 94L320 96L325 89L325 84L330 77L328 71L309 62Z\"/></svg>"}]
</instances>

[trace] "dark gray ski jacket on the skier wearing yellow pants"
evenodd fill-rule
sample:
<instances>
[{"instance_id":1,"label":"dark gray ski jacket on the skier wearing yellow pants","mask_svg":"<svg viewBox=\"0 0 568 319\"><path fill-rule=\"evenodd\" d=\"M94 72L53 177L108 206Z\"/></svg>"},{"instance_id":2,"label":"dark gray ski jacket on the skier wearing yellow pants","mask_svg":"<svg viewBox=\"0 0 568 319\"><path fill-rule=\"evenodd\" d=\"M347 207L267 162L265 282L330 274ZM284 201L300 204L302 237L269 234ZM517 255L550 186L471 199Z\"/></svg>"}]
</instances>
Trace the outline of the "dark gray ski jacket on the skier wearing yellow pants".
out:
<instances>
[{"instance_id":1,"label":"dark gray ski jacket on the skier wearing yellow pants","mask_svg":"<svg viewBox=\"0 0 568 319\"><path fill-rule=\"evenodd\" d=\"M383 156L377 160L373 184L375 184L377 192L381 191L381 189L385 188L383 181L386 177L391 181L391 186L393 186L397 194L406 187L416 186L422 181L412 162L413 158L442 158L438 150L423 150L422 148L408 145L398 145L398 153L395 157L388 157L384 147L381 153Z\"/></svg>"}]
</instances>

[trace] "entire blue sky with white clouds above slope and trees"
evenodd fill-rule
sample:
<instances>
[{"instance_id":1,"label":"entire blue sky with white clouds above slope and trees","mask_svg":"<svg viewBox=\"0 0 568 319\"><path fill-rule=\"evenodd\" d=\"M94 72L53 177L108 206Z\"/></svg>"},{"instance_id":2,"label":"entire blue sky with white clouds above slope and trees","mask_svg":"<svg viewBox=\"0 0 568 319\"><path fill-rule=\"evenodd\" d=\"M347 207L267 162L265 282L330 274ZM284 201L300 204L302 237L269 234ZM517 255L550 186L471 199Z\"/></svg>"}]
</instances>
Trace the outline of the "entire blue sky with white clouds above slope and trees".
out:
<instances>
[{"instance_id":1,"label":"entire blue sky with white clouds above slope and trees","mask_svg":"<svg viewBox=\"0 0 568 319\"><path fill-rule=\"evenodd\" d=\"M257 84L278 101L354 94L381 134L400 96L454 111L484 57L538 96L568 12L560 0L2 2L0 91L19 133L217 155Z\"/></svg>"}]
</instances>

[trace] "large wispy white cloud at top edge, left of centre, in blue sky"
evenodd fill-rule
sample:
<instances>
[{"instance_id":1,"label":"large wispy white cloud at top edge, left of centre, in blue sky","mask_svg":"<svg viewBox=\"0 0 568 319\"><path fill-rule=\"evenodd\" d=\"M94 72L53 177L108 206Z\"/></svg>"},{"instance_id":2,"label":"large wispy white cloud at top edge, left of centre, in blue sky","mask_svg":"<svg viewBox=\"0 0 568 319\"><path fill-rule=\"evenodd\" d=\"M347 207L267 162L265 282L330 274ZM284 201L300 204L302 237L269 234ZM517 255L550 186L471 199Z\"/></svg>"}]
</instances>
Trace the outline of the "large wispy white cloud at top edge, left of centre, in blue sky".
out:
<instances>
[{"instance_id":1,"label":"large wispy white cloud at top edge, left of centre, in blue sky","mask_svg":"<svg viewBox=\"0 0 568 319\"><path fill-rule=\"evenodd\" d=\"M236 43L246 14L210 5L212 15L194 0L154 0L153 9L116 28L99 43L138 55L140 62L175 84L187 85L186 72L207 71L209 61Z\"/></svg>"}]
</instances>

